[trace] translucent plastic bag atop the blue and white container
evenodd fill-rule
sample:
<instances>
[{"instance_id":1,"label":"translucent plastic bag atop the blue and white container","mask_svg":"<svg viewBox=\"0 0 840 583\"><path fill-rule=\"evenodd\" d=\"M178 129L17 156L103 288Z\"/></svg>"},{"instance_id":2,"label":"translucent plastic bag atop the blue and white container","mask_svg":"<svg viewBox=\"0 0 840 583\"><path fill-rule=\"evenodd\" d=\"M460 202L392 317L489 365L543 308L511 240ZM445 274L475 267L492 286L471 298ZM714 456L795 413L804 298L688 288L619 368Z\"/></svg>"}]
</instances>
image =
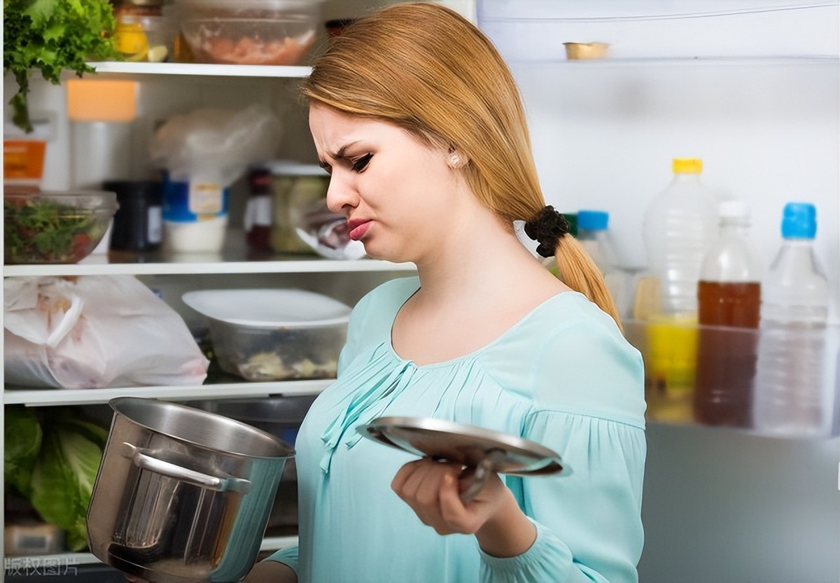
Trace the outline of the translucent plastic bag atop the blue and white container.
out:
<instances>
[{"instance_id":1,"label":"translucent plastic bag atop the blue and white container","mask_svg":"<svg viewBox=\"0 0 840 583\"><path fill-rule=\"evenodd\" d=\"M280 139L280 120L264 105L241 111L202 108L168 119L152 136L149 150L171 181L229 186L248 165L271 160Z\"/></svg>"}]
</instances>

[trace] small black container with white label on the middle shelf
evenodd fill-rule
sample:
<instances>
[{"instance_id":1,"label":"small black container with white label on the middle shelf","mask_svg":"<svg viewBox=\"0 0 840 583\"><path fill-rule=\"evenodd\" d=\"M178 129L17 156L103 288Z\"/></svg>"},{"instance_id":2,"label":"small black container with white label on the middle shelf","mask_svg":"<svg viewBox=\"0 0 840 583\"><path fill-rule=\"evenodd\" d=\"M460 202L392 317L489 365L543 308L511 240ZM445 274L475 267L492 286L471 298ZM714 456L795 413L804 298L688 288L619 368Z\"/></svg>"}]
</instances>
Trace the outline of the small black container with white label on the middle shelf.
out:
<instances>
[{"instance_id":1,"label":"small black container with white label on the middle shelf","mask_svg":"<svg viewBox=\"0 0 840 583\"><path fill-rule=\"evenodd\" d=\"M119 209L113 217L111 249L151 251L160 247L160 181L106 181L105 190L117 193Z\"/></svg>"}]
</instances>

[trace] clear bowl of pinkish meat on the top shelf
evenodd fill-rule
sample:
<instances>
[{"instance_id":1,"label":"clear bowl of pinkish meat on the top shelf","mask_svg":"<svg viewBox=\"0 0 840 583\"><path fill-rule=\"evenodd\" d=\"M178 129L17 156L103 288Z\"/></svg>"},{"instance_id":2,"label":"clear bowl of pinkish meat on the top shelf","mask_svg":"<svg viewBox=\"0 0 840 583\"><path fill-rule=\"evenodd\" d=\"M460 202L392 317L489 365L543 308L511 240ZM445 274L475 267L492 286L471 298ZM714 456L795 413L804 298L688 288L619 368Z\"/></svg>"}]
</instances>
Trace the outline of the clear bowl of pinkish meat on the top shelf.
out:
<instances>
[{"instance_id":1,"label":"clear bowl of pinkish meat on the top shelf","mask_svg":"<svg viewBox=\"0 0 840 583\"><path fill-rule=\"evenodd\" d=\"M296 65L316 38L321 0L176 0L200 63Z\"/></svg>"}]
</instances>

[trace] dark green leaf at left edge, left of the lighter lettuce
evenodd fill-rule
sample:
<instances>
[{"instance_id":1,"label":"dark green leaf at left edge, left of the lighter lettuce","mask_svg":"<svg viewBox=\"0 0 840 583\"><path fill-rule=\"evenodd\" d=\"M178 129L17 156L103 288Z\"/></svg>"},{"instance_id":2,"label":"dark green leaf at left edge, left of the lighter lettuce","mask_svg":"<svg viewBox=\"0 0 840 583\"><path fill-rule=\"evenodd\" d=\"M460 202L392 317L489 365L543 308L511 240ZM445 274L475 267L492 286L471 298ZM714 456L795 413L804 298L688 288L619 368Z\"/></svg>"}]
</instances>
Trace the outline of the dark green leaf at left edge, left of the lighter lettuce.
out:
<instances>
[{"instance_id":1,"label":"dark green leaf at left edge, left of the lighter lettuce","mask_svg":"<svg viewBox=\"0 0 840 583\"><path fill-rule=\"evenodd\" d=\"M4 487L29 496L32 468L41 449L41 426L28 407L9 406L4 413L3 475Z\"/></svg>"}]
</instances>

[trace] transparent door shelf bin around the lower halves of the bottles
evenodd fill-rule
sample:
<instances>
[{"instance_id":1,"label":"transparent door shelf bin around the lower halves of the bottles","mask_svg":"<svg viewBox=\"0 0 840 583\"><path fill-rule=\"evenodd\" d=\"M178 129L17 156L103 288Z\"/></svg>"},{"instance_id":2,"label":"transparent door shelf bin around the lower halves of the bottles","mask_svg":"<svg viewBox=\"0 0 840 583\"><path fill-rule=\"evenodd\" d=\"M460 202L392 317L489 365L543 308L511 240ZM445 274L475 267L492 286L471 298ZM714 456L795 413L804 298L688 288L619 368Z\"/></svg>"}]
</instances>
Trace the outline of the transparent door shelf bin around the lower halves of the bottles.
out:
<instances>
[{"instance_id":1,"label":"transparent door shelf bin around the lower halves of the bottles","mask_svg":"<svg viewBox=\"0 0 840 583\"><path fill-rule=\"evenodd\" d=\"M840 398L837 324L797 332L795 340L783 340L784 344L764 328L638 320L623 325L627 340L642 353L645 363L648 421L792 439L840 434L836 419ZM766 370L762 367L768 366L765 347L773 347L778 354L780 350L801 350L806 344L810 350L793 363L797 370L772 379L761 374ZM822 383L818 392L802 392L798 381L804 375L816 380L814 384ZM769 380L778 378L790 386L769 386ZM792 403L810 404L794 407Z\"/></svg>"}]
</instances>

